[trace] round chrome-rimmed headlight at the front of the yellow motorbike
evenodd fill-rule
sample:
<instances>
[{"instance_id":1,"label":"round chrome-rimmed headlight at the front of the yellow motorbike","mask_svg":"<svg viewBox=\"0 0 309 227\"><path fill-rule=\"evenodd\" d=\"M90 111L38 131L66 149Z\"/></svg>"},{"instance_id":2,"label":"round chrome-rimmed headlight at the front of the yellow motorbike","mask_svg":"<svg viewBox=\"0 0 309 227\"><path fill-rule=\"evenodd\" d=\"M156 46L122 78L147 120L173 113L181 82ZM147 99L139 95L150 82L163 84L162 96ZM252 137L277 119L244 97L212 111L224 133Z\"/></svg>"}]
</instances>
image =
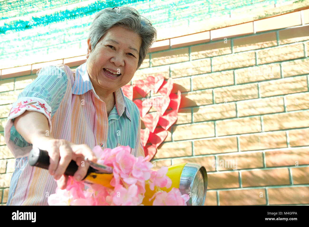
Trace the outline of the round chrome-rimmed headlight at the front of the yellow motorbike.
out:
<instances>
[{"instance_id":1,"label":"round chrome-rimmed headlight at the front of the yellow motorbike","mask_svg":"<svg viewBox=\"0 0 309 227\"><path fill-rule=\"evenodd\" d=\"M179 190L181 194L188 194L187 205L202 206L207 191L207 172L204 166L187 163L180 176Z\"/></svg>"}]
</instances>

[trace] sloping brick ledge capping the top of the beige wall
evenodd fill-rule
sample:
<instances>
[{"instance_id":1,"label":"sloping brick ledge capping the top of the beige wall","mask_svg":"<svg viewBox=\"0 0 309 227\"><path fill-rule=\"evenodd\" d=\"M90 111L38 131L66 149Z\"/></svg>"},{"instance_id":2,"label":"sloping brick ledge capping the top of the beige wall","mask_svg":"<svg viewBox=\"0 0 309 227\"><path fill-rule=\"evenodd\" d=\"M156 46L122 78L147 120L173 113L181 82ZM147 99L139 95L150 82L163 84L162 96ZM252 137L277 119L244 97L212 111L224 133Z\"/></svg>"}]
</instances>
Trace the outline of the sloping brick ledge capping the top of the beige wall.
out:
<instances>
[{"instance_id":1,"label":"sloping brick ledge capping the top of the beige wall","mask_svg":"<svg viewBox=\"0 0 309 227\"><path fill-rule=\"evenodd\" d=\"M231 37L236 37L244 34L253 34L253 22L256 24L256 32L263 31L263 30L269 30L269 25L273 26L271 30L274 29L280 29L284 27L290 27L290 26L295 26L295 25L301 25L301 18L300 18L300 11L303 11L304 15L304 23L307 24L309 23L309 6L295 9L293 10L292 13L287 13L287 14L281 14L281 15L274 15L269 18L262 18L256 21L251 21L251 22L246 22L242 24L237 24L237 25L232 25L232 26L227 26L227 27L222 27L210 31L203 31L195 34L188 34L180 37L175 37L171 39L165 39L165 40L159 40L153 43L153 45L150 48L150 52L155 52L155 51L162 51L162 50L167 50L170 47L172 48L177 48L177 47L183 47L183 46L188 46L188 45L194 45L198 43L205 43L209 42L209 34L211 34L212 40L220 40L224 38L231 38ZM299 17L298 17L299 14ZM296 20L294 15L297 16ZM292 18L292 20L290 20ZM282 19L288 23L282 23ZM270 22L270 21L277 21L276 23ZM300 21L300 22L299 22ZM267 22L267 23L266 23ZM264 25L267 25L267 28L263 27ZM251 26L252 25L252 26ZM279 25L279 26L278 26ZM243 30L246 30L246 33L243 32ZM238 32L237 32L238 31ZM204 39L201 38L202 36L205 36ZM190 42L189 42L190 41ZM83 55L85 56L85 55ZM67 58L63 59L64 62L63 64L68 65L69 67L75 67L79 66L80 64L84 63L85 60L79 59L78 58L83 58L83 56L78 56L78 57L72 57L72 58ZM60 59L61 60L61 59ZM60 61L59 60L59 61ZM58 61L58 60L55 60ZM52 64L55 64L55 61L51 61ZM42 65L48 65L49 62L43 62L43 63L37 63L33 64L38 67L39 64ZM21 67L13 67L13 68L8 68L8 69L0 69L0 72L2 75L2 79L7 79L11 77L16 77L16 76L23 76L23 75L30 75L31 74L31 66L32 66L32 71L33 71L33 65L26 65L26 66L21 66ZM22 67L30 67L30 70L27 68L22 68Z\"/></svg>"}]
</instances>

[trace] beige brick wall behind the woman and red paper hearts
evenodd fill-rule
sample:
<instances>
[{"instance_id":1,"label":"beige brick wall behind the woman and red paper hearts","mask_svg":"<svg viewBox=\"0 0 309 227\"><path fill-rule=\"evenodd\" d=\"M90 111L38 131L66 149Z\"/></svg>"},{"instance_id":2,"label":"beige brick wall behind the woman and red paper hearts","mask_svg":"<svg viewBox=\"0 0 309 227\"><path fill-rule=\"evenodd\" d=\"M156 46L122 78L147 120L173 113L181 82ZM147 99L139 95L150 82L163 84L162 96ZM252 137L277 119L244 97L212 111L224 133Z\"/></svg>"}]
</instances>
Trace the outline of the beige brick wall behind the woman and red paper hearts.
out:
<instances>
[{"instance_id":1,"label":"beige brick wall behind the woman and red paper hearts","mask_svg":"<svg viewBox=\"0 0 309 227\"><path fill-rule=\"evenodd\" d=\"M296 13L156 42L133 77L162 74L181 91L178 120L153 160L205 166L205 205L309 204L309 10ZM60 61L74 68L81 59ZM15 160L3 127L44 64L1 72L2 204Z\"/></svg>"}]
</instances>

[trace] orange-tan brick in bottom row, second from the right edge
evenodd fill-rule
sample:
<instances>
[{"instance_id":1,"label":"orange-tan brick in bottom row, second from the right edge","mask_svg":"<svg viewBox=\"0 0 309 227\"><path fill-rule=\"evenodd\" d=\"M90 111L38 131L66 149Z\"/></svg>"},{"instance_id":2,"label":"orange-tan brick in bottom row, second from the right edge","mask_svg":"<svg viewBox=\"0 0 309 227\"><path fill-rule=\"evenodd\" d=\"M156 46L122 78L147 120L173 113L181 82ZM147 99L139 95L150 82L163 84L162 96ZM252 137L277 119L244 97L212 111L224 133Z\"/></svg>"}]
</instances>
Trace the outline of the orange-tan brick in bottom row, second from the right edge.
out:
<instances>
[{"instance_id":1,"label":"orange-tan brick in bottom row, second from the right edge","mask_svg":"<svg viewBox=\"0 0 309 227\"><path fill-rule=\"evenodd\" d=\"M264 188L220 191L219 198L221 206L266 205L266 192Z\"/></svg>"}]
</instances>

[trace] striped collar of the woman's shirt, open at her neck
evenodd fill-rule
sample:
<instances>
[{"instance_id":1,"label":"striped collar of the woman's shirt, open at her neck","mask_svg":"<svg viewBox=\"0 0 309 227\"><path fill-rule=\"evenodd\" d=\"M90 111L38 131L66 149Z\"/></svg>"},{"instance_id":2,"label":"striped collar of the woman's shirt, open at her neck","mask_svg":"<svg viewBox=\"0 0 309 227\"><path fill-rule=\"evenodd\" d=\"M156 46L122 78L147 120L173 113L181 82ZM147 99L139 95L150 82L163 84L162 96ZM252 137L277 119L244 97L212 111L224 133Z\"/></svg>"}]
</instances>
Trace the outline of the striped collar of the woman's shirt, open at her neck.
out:
<instances>
[{"instance_id":1,"label":"striped collar of the woman's shirt, open at her neck","mask_svg":"<svg viewBox=\"0 0 309 227\"><path fill-rule=\"evenodd\" d=\"M75 81L72 87L72 94L82 95L90 90L93 92L97 99L100 99L99 96L95 93L95 90L92 86L91 80L87 72L87 62L85 62L75 69ZM123 94L121 88L116 90L114 93L118 115L122 116L123 112L125 111L126 116L131 121L127 100L125 99L125 95Z\"/></svg>"}]
</instances>

